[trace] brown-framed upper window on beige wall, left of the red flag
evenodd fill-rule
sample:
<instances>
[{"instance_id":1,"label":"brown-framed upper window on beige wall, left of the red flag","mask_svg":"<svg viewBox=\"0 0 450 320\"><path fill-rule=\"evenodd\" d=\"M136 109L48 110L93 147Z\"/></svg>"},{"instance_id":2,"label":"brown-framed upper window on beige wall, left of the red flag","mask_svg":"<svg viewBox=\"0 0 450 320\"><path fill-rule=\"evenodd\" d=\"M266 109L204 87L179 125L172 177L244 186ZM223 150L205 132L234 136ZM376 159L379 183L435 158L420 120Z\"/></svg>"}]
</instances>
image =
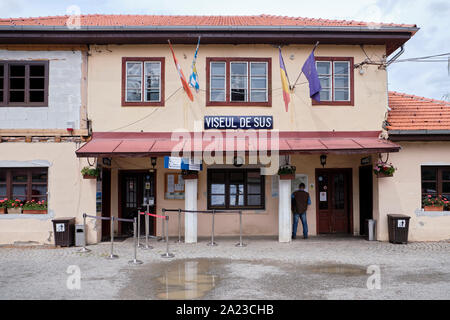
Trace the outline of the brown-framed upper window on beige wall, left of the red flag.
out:
<instances>
[{"instance_id":1,"label":"brown-framed upper window on beige wall, left of the red flag","mask_svg":"<svg viewBox=\"0 0 450 320\"><path fill-rule=\"evenodd\" d=\"M164 106L164 60L122 59L123 106Z\"/></svg>"}]
</instances>

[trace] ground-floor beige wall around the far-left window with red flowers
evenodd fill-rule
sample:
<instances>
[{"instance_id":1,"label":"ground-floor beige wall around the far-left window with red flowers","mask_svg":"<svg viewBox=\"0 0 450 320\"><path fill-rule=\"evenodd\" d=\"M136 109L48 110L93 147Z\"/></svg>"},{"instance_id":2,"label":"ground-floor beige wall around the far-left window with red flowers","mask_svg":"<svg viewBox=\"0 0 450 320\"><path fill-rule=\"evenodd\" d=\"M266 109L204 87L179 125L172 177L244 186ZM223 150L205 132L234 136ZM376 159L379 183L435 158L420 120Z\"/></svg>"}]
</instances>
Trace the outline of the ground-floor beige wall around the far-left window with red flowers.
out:
<instances>
[{"instance_id":1,"label":"ground-floor beige wall around the far-left window with red flowers","mask_svg":"<svg viewBox=\"0 0 450 320\"><path fill-rule=\"evenodd\" d=\"M95 215L96 181L83 180L80 170L87 165L75 156L75 143L0 143L2 161L49 162L48 214L0 215L0 244L14 241L37 241L54 244L52 219L76 217L82 224L82 214ZM88 224L88 241L97 242L97 231ZM49 241L50 239L50 241Z\"/></svg>"}]
</instances>

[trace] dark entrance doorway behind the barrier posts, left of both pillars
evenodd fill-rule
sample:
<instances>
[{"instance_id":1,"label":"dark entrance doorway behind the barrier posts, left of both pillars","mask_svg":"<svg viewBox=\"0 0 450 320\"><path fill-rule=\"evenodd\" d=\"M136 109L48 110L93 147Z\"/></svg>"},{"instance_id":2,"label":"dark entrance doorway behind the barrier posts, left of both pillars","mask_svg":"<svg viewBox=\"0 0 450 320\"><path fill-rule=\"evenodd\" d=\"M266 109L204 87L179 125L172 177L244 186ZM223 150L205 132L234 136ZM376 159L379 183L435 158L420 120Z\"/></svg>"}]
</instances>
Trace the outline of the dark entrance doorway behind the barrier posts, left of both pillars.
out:
<instances>
[{"instance_id":1,"label":"dark entrance doorway behind the barrier posts, left of both pillars","mask_svg":"<svg viewBox=\"0 0 450 320\"><path fill-rule=\"evenodd\" d=\"M149 204L150 213L156 213L156 171L148 170L123 170L119 172L119 217L133 219L138 211L145 211ZM145 216L141 219L141 234L145 234ZM119 234L131 236L133 224L119 222ZM149 234L156 234L156 221L149 217Z\"/></svg>"}]
</instances>

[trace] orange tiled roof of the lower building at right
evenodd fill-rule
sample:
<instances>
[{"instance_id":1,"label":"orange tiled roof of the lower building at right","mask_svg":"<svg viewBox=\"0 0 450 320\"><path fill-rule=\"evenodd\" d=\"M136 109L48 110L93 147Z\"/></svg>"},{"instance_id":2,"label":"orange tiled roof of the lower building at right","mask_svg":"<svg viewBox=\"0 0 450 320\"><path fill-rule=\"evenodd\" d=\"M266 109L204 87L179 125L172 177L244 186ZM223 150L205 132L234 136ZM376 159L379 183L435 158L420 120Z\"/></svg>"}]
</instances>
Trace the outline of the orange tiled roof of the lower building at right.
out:
<instances>
[{"instance_id":1,"label":"orange tiled roof of the lower building at right","mask_svg":"<svg viewBox=\"0 0 450 320\"><path fill-rule=\"evenodd\" d=\"M389 92L388 130L450 130L450 102Z\"/></svg>"}]
</instances>

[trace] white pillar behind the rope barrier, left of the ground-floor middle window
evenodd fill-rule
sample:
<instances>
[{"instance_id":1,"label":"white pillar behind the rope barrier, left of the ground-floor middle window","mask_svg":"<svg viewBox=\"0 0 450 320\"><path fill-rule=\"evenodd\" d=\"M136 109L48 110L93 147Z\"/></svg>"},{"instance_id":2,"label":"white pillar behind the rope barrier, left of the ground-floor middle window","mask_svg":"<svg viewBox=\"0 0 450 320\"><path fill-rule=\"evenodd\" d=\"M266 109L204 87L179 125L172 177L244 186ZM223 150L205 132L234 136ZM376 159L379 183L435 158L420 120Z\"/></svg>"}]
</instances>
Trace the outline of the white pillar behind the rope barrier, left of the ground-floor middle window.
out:
<instances>
[{"instance_id":1,"label":"white pillar behind the rope barrier, left of the ground-floor middle window","mask_svg":"<svg viewBox=\"0 0 450 320\"><path fill-rule=\"evenodd\" d=\"M197 210L197 181L197 179L184 180L185 210ZM197 243L197 213L186 212L184 214L184 242Z\"/></svg>"}]
</instances>

